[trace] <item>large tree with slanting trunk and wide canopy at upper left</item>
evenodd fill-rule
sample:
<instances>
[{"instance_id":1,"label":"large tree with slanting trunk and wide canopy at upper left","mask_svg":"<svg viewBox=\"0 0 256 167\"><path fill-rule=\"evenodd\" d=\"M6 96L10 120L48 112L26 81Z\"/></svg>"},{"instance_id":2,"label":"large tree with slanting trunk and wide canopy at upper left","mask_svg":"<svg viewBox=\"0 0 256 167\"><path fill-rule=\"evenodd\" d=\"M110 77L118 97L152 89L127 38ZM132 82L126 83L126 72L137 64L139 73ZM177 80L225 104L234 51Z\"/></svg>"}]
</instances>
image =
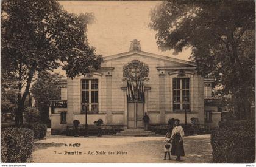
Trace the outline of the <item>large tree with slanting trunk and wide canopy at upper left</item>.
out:
<instances>
[{"instance_id":1,"label":"large tree with slanting trunk and wide canopy at upper left","mask_svg":"<svg viewBox=\"0 0 256 167\"><path fill-rule=\"evenodd\" d=\"M18 81L18 126L23 124L24 101L38 72L62 67L74 78L90 73L90 67L98 69L102 57L87 42L92 14L68 13L54 0L3 1L1 5L1 66Z\"/></svg>"}]
</instances>

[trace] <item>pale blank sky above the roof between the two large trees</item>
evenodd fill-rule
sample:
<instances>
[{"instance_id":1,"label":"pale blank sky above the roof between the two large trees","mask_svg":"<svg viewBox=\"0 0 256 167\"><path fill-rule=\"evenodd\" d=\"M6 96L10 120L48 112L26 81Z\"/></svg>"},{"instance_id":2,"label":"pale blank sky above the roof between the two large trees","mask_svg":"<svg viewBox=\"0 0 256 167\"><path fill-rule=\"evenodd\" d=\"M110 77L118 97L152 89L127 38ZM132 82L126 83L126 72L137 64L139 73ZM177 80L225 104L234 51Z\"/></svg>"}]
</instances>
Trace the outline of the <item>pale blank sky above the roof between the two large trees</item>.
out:
<instances>
[{"instance_id":1,"label":"pale blank sky above the roof between the two large trees","mask_svg":"<svg viewBox=\"0 0 256 167\"><path fill-rule=\"evenodd\" d=\"M140 41L141 50L188 60L190 50L172 55L173 50L161 52L155 35L148 27L149 12L160 1L59 1L71 13L94 13L96 20L88 25L87 38L96 53L103 56L128 52L130 41Z\"/></svg>"}]
</instances>

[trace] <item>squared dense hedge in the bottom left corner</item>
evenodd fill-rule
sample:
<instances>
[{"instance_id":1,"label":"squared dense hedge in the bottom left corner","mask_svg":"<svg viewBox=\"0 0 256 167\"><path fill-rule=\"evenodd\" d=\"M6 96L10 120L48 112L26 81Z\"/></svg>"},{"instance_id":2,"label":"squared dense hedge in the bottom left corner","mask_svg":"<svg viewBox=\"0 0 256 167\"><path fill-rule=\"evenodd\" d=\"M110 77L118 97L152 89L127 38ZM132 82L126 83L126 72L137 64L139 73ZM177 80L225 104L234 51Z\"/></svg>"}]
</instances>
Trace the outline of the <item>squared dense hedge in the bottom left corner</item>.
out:
<instances>
[{"instance_id":1,"label":"squared dense hedge in the bottom left corner","mask_svg":"<svg viewBox=\"0 0 256 167\"><path fill-rule=\"evenodd\" d=\"M2 162L27 162L33 149L33 131L26 128L3 128L1 133Z\"/></svg>"}]
</instances>

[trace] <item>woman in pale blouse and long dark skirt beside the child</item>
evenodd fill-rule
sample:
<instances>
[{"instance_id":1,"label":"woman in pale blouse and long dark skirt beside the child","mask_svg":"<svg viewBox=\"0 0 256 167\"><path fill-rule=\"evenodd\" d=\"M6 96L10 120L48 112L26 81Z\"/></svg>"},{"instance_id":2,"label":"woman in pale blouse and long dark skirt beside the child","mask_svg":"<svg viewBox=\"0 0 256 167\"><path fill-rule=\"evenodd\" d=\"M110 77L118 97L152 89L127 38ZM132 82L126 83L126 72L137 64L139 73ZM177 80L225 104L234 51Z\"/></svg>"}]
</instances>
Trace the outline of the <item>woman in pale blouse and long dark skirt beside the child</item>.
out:
<instances>
[{"instance_id":1,"label":"woman in pale blouse and long dark skirt beside the child","mask_svg":"<svg viewBox=\"0 0 256 167\"><path fill-rule=\"evenodd\" d=\"M172 141L172 148L171 148L171 155L176 155L177 161L180 161L180 157L185 156L183 140L184 140L184 131L182 126L179 125L180 120L174 120L175 127L172 129L171 138Z\"/></svg>"}]
</instances>

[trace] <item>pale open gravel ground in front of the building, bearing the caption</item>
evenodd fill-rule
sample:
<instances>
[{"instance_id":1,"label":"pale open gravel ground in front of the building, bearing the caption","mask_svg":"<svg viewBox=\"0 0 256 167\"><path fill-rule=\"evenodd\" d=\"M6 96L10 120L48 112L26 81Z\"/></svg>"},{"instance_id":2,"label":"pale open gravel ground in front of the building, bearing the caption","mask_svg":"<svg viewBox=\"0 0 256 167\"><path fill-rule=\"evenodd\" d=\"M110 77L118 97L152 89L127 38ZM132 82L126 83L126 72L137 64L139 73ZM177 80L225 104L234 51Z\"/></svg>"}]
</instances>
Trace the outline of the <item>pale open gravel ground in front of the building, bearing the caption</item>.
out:
<instances>
[{"instance_id":1,"label":"pale open gravel ground in front of the building, bearing the caption","mask_svg":"<svg viewBox=\"0 0 256 167\"><path fill-rule=\"evenodd\" d=\"M35 141L32 161L39 162L133 162L177 163L163 160L164 136L154 137L66 137L48 135ZM185 137L185 157L179 163L210 163L210 135Z\"/></svg>"}]
</instances>

